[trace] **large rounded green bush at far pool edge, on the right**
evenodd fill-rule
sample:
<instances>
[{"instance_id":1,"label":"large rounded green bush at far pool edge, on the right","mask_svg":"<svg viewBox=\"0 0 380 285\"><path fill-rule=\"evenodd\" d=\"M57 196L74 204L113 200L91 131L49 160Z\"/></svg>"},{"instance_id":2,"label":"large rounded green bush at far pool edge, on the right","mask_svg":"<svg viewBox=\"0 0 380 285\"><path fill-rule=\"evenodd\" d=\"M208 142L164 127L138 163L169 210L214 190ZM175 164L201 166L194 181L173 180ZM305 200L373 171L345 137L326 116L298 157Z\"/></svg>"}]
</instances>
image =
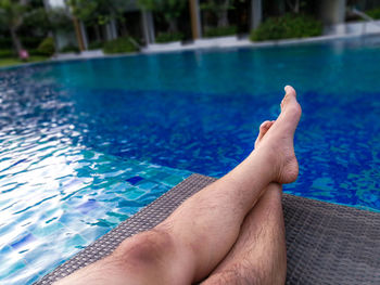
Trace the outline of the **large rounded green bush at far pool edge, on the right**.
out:
<instances>
[{"instance_id":1,"label":"large rounded green bush at far pool edge, on the right","mask_svg":"<svg viewBox=\"0 0 380 285\"><path fill-rule=\"evenodd\" d=\"M290 38L306 38L319 36L322 24L307 15L286 14L281 17L271 17L251 33L252 41L277 40Z\"/></svg>"}]
</instances>

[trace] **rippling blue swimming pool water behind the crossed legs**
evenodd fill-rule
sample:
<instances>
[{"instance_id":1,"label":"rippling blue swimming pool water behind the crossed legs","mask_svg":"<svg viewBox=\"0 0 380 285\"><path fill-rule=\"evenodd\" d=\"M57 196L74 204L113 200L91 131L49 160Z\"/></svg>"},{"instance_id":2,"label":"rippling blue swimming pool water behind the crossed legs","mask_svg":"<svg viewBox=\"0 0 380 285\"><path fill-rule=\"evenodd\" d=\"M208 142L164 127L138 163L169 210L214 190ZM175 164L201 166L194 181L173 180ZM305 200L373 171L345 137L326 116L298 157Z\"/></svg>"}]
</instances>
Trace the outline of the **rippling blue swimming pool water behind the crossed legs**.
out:
<instances>
[{"instance_id":1,"label":"rippling blue swimming pool water behind the crossed legs","mask_svg":"<svg viewBox=\"0 0 380 285\"><path fill-rule=\"evenodd\" d=\"M0 280L62 263L191 172L220 177L297 90L288 193L380 210L380 39L0 70Z\"/></svg>"}]
</instances>

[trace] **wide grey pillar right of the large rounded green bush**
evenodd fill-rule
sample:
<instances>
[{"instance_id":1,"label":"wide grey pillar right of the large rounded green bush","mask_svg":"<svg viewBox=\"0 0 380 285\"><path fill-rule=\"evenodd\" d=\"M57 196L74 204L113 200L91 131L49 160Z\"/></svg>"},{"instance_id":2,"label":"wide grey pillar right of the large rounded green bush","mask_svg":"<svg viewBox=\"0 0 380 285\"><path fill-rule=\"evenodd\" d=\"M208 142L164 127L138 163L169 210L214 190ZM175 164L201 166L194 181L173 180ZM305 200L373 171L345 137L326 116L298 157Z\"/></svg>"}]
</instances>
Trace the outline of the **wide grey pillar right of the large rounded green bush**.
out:
<instances>
[{"instance_id":1,"label":"wide grey pillar right of the large rounded green bush","mask_svg":"<svg viewBox=\"0 0 380 285\"><path fill-rule=\"evenodd\" d=\"M344 23L346 0L321 0L319 17L325 25Z\"/></svg>"}]
</instances>

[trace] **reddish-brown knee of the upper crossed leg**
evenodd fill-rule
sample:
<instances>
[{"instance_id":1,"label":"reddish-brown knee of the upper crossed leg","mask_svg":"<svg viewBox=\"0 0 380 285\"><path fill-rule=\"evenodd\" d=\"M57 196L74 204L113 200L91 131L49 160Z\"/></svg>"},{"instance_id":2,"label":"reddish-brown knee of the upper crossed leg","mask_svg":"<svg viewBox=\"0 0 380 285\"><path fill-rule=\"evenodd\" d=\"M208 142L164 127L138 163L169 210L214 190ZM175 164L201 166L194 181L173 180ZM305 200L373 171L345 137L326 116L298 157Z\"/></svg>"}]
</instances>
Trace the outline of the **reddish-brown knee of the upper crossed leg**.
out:
<instances>
[{"instance_id":1,"label":"reddish-brown knee of the upper crossed leg","mask_svg":"<svg viewBox=\"0 0 380 285\"><path fill-rule=\"evenodd\" d=\"M156 267L173 250L174 242L170 234L153 229L125 239L113 255L124 264Z\"/></svg>"}]
</instances>

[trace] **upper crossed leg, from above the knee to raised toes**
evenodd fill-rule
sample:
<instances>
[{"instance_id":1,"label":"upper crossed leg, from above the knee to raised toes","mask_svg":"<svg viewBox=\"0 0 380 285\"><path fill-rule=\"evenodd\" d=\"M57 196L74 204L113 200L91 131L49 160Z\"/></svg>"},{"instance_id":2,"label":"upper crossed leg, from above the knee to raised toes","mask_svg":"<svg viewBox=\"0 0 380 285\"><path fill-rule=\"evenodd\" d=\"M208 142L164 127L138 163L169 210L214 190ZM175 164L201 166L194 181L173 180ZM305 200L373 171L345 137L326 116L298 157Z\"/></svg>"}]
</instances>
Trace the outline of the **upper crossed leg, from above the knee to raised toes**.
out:
<instances>
[{"instance_id":1,"label":"upper crossed leg, from above the knee to raised toes","mask_svg":"<svg viewBox=\"0 0 380 285\"><path fill-rule=\"evenodd\" d=\"M297 176L293 135L301 107L294 89L286 91L280 116L244 161L152 231L127 238L111 256L62 284L190 284L206 277L237 241L263 190L273 181L290 183Z\"/></svg>"}]
</instances>

